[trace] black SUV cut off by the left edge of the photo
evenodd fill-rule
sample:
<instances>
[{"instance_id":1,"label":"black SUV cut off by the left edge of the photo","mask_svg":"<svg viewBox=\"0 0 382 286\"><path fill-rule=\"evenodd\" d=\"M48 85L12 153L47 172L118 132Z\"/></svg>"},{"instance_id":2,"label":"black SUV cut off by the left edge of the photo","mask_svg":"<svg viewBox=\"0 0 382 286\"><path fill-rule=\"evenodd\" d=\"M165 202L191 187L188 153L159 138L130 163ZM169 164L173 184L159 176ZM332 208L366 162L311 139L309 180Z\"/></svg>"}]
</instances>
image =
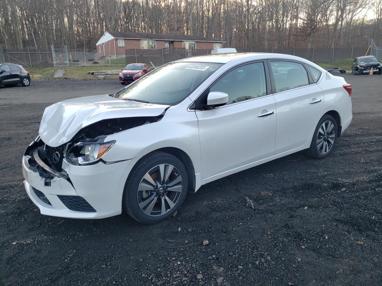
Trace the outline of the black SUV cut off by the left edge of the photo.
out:
<instances>
[{"instance_id":1,"label":"black SUV cut off by the left edge of the photo","mask_svg":"<svg viewBox=\"0 0 382 286\"><path fill-rule=\"evenodd\" d=\"M31 76L29 72L18 64L0 64L0 87L17 84L21 84L23 87L30 85Z\"/></svg>"}]
</instances>

